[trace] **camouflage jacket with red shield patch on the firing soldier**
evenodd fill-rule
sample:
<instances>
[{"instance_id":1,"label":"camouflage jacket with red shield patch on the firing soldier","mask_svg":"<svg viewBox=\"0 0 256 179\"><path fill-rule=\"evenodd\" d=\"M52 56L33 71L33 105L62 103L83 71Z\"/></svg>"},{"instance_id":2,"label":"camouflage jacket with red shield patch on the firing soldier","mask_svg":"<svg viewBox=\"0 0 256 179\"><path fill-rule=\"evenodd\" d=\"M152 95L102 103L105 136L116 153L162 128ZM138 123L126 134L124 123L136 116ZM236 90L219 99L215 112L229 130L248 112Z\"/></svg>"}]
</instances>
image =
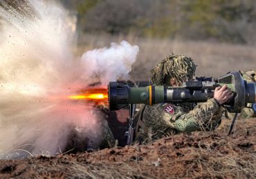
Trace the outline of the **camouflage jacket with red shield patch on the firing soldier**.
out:
<instances>
[{"instance_id":1,"label":"camouflage jacket with red shield patch on the firing soldier","mask_svg":"<svg viewBox=\"0 0 256 179\"><path fill-rule=\"evenodd\" d=\"M144 105L134 116L135 143L148 143L185 131L212 131L221 123L222 107L213 98L192 108L172 103Z\"/></svg>"}]
</instances>

